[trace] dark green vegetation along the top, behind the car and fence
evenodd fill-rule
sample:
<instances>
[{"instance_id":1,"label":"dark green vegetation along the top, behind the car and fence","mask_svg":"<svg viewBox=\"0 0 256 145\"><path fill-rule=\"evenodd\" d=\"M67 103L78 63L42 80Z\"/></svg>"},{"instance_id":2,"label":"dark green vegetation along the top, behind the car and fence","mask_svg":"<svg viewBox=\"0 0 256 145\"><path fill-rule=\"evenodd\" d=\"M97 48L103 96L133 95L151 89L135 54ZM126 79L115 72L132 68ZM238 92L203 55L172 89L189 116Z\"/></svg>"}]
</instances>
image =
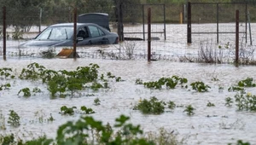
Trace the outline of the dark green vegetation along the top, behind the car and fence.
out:
<instances>
[{"instance_id":1,"label":"dark green vegetation along the top, behind the car and fence","mask_svg":"<svg viewBox=\"0 0 256 145\"><path fill-rule=\"evenodd\" d=\"M256 4L254 0L0 0L0 7L5 6L7 9L7 23L9 26L15 26L16 31L28 32L31 26L73 21L73 8L78 9L78 14L108 13L109 20L117 22L117 6L120 2L123 3L124 22L132 24L142 23L143 19L147 19L148 7L152 8L153 22L164 22L163 5L145 5L143 7L142 4L165 4L166 22L169 23L179 23L180 14L184 12L184 4L187 2L248 3L248 10L251 14L254 14ZM210 10L212 11L212 9ZM3 14L0 15L3 16ZM230 17L230 15L225 17ZM213 16L212 19L214 18ZM212 19L210 18L210 20ZM251 20L256 20L256 18L252 15Z\"/></svg>"}]
</instances>

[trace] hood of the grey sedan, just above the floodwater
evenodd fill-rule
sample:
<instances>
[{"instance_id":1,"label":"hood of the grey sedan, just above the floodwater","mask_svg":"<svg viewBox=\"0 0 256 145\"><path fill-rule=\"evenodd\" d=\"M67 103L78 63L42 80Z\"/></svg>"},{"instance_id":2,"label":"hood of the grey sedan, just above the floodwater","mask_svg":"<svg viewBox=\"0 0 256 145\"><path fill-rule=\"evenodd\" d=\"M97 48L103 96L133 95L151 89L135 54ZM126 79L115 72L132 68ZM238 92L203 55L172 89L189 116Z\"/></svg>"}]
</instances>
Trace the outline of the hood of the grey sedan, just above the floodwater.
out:
<instances>
[{"instance_id":1,"label":"hood of the grey sedan, just above the floodwater","mask_svg":"<svg viewBox=\"0 0 256 145\"><path fill-rule=\"evenodd\" d=\"M71 40L29 40L26 43L21 44L21 46L61 46L61 45L72 45Z\"/></svg>"}]
</instances>

